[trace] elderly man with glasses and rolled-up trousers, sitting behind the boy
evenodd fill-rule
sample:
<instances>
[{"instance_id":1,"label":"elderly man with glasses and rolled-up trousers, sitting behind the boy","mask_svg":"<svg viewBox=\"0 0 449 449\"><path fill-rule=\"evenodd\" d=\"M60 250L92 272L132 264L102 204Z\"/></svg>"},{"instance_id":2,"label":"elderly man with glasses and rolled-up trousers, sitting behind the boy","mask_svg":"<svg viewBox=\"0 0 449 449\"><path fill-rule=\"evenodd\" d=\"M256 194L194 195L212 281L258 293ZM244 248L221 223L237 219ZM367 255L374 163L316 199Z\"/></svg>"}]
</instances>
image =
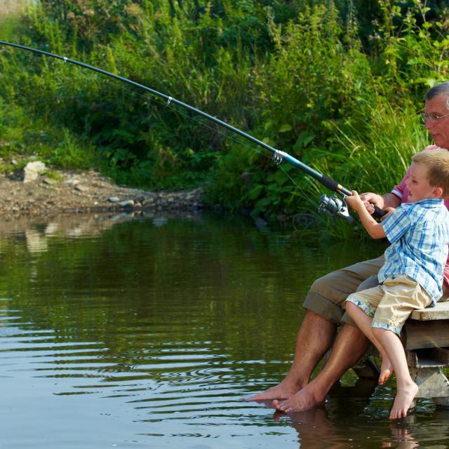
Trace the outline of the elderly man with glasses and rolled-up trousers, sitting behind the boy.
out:
<instances>
[{"instance_id":1,"label":"elderly man with glasses and rolled-up trousers, sitting behind the boy","mask_svg":"<svg viewBox=\"0 0 449 449\"><path fill-rule=\"evenodd\" d=\"M449 149L449 81L429 89L424 98L425 113L421 118L436 144L427 149ZM383 196L363 194L368 210L373 213L373 205L384 209L406 203L407 177L408 172L399 185ZM448 200L445 200L445 206L449 208ZM304 300L306 314L297 334L295 356L288 374L280 384L248 398L248 401L273 399L278 410L290 413L307 410L325 400L333 384L363 357L370 346L370 342L345 313L344 300L350 293L377 286L377 272L383 263L382 255L339 269L312 284ZM449 293L448 286L449 265L446 262L443 297ZM337 335L340 325L342 329ZM332 345L326 366L309 382L312 371Z\"/></svg>"}]
</instances>

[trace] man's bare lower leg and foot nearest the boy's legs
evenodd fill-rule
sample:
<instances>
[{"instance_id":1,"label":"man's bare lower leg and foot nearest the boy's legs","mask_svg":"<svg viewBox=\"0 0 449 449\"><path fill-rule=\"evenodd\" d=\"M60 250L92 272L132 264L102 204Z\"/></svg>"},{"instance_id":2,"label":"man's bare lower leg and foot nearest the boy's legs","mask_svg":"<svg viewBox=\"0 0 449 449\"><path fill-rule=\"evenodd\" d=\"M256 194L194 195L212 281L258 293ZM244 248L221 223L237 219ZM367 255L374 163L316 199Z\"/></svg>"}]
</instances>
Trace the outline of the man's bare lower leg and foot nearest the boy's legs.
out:
<instances>
[{"instance_id":1,"label":"man's bare lower leg and foot nearest the boy's legs","mask_svg":"<svg viewBox=\"0 0 449 449\"><path fill-rule=\"evenodd\" d=\"M333 384L368 351L369 347L370 341L361 330L344 324L321 373L286 401L273 401L273 405L278 410L290 413L307 410L322 403Z\"/></svg>"}]
</instances>

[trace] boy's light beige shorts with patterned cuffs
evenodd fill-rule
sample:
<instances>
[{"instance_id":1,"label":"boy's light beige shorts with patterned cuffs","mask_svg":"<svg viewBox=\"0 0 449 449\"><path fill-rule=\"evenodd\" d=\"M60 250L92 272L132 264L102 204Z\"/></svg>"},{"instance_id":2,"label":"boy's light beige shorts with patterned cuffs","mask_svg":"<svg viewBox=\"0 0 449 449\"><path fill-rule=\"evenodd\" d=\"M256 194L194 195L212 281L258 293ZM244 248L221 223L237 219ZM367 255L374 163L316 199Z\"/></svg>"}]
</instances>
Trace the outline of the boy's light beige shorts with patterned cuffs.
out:
<instances>
[{"instance_id":1,"label":"boy's light beige shorts with patterned cuffs","mask_svg":"<svg viewBox=\"0 0 449 449\"><path fill-rule=\"evenodd\" d=\"M354 302L373 318L371 327L391 330L399 335L403 323L415 309L431 304L431 297L420 284L408 276L385 279L382 285L349 295Z\"/></svg>"}]
</instances>

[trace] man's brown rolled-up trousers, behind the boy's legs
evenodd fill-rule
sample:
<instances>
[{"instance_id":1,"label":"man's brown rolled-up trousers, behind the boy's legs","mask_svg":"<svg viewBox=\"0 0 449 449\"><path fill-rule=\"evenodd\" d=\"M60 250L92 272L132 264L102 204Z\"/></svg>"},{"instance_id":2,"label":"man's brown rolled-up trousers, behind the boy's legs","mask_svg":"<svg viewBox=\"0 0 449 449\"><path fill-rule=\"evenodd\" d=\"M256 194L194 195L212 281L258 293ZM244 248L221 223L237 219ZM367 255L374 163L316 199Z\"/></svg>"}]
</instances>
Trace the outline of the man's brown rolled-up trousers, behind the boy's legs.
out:
<instances>
[{"instance_id":1,"label":"man's brown rolled-up trousers, behind the boy's legs","mask_svg":"<svg viewBox=\"0 0 449 449\"><path fill-rule=\"evenodd\" d=\"M332 323L356 326L344 310L344 301L351 293L378 286L377 273L383 264L384 256L381 255L376 259L337 269L316 279L305 297L304 308ZM445 300L449 300L448 290L440 302Z\"/></svg>"}]
</instances>

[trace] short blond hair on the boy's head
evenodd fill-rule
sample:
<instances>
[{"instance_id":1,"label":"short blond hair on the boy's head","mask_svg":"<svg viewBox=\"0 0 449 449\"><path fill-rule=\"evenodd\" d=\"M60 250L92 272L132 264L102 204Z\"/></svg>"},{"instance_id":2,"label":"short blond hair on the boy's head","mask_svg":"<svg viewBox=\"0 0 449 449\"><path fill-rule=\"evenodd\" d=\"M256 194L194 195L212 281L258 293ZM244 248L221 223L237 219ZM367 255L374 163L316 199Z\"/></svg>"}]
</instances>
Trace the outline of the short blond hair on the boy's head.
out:
<instances>
[{"instance_id":1,"label":"short blond hair on the boy's head","mask_svg":"<svg viewBox=\"0 0 449 449\"><path fill-rule=\"evenodd\" d=\"M443 189L442 198L449 197L449 150L437 148L413 154L412 162L427 168L427 180L432 187Z\"/></svg>"}]
</instances>

